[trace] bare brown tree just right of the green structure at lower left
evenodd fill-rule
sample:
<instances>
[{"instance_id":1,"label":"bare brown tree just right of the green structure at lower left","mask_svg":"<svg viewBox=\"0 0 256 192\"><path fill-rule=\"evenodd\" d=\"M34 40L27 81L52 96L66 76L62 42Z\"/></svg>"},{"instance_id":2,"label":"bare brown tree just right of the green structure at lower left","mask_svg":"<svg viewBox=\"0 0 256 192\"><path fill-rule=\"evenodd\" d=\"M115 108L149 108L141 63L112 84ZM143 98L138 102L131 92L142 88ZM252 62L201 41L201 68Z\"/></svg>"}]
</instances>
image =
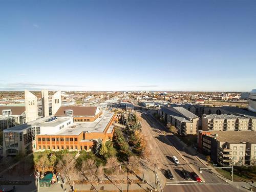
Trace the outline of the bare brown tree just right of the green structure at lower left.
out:
<instances>
[{"instance_id":1,"label":"bare brown tree just right of the green structure at lower left","mask_svg":"<svg viewBox=\"0 0 256 192\"><path fill-rule=\"evenodd\" d=\"M72 189L72 191L74 191L74 180L77 175L75 158L70 154L66 154L65 156L63 156L62 160L59 161L56 168L62 176L65 176L65 178L67 178L70 184L70 188ZM73 181L73 187L71 187L71 181Z\"/></svg>"}]
</instances>

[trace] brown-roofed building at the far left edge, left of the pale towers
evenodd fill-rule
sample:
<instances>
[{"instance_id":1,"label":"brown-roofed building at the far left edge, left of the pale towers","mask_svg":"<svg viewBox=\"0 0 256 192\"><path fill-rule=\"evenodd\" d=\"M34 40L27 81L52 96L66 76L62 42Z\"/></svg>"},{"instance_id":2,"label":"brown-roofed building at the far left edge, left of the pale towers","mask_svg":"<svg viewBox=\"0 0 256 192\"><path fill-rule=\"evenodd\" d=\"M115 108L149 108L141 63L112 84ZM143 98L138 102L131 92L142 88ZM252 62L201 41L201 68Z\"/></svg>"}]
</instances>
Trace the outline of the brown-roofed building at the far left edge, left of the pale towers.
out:
<instances>
[{"instance_id":1,"label":"brown-roofed building at the far left edge, left of the pale towers","mask_svg":"<svg viewBox=\"0 0 256 192\"><path fill-rule=\"evenodd\" d=\"M25 106L0 106L0 131L24 123Z\"/></svg>"}]
</instances>

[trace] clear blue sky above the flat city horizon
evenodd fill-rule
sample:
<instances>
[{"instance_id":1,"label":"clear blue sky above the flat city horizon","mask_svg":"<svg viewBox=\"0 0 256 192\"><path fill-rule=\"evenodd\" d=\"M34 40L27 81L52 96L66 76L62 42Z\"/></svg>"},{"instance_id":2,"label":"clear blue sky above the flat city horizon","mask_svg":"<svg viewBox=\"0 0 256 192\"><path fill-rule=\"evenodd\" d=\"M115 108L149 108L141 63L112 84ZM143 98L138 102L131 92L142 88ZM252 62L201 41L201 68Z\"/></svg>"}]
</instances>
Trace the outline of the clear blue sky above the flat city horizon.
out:
<instances>
[{"instance_id":1,"label":"clear blue sky above the flat city horizon","mask_svg":"<svg viewBox=\"0 0 256 192\"><path fill-rule=\"evenodd\" d=\"M0 90L256 89L256 1L2 1Z\"/></svg>"}]
</instances>

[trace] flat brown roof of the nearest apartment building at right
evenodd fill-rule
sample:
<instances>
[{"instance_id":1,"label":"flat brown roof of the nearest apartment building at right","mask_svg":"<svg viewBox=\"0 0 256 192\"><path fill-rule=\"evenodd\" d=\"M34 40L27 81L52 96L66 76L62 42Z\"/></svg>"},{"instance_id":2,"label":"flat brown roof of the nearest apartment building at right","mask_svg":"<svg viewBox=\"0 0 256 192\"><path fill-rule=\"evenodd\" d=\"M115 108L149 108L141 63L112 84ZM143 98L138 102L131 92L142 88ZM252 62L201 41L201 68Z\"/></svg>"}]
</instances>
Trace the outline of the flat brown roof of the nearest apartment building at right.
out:
<instances>
[{"instance_id":1,"label":"flat brown roof of the nearest apartment building at right","mask_svg":"<svg viewBox=\"0 0 256 192\"><path fill-rule=\"evenodd\" d=\"M216 138L220 142L256 143L256 132L254 131L210 131L210 134L211 137L214 137L215 134L218 134Z\"/></svg>"}]
</instances>

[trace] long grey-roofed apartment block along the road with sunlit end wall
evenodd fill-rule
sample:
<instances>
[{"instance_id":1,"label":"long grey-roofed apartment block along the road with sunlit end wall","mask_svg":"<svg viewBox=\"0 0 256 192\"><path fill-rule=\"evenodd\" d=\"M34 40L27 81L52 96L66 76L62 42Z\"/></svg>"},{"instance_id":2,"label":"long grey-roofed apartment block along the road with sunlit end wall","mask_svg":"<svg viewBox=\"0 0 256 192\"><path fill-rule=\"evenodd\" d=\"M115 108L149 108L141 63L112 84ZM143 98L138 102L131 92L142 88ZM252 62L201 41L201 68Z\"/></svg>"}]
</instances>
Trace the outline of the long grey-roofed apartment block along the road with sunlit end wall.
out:
<instances>
[{"instance_id":1,"label":"long grey-roofed apartment block along the road with sunlit end wall","mask_svg":"<svg viewBox=\"0 0 256 192\"><path fill-rule=\"evenodd\" d=\"M182 107L161 108L158 114L166 123L180 129L181 135L197 134L199 117Z\"/></svg>"}]
</instances>

